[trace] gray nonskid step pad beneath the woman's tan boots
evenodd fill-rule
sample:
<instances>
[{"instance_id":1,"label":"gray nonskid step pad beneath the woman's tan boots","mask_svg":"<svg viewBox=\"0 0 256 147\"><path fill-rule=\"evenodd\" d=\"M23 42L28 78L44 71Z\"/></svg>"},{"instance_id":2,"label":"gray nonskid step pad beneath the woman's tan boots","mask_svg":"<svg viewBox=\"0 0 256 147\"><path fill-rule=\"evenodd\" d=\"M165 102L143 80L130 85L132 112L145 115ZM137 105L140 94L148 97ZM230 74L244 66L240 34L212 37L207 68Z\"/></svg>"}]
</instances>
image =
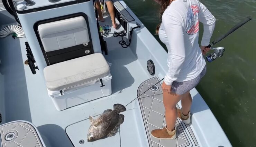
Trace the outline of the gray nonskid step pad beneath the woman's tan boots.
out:
<instances>
[{"instance_id":1,"label":"gray nonskid step pad beneath the woman's tan boots","mask_svg":"<svg viewBox=\"0 0 256 147\"><path fill-rule=\"evenodd\" d=\"M138 88L137 95L141 95L148 88L158 82L157 77L144 81ZM177 138L176 139L156 139L151 136L154 129L162 129L165 123L165 109L163 104L163 92L161 84L157 84L145 94L139 97L140 109L143 114L144 124L148 136L150 147L192 147L198 146L198 141L190 127L177 119ZM177 108L180 107L177 105Z\"/></svg>"}]
</instances>

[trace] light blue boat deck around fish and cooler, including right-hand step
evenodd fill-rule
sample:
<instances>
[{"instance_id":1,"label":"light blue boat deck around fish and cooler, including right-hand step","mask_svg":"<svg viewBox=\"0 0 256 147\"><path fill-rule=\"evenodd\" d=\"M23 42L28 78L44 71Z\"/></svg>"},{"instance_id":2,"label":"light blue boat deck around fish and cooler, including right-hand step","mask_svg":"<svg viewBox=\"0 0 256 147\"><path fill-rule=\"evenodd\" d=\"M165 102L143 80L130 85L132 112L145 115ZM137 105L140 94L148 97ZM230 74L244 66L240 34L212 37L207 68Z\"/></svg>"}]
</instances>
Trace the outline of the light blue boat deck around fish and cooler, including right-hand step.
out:
<instances>
[{"instance_id":1,"label":"light blue boat deck around fish and cooler, including right-hand step","mask_svg":"<svg viewBox=\"0 0 256 147\"><path fill-rule=\"evenodd\" d=\"M132 17L137 19L136 16ZM105 22L100 22L101 26L111 24L108 15L104 18ZM138 20L138 22L140 21ZM105 58L112 64L110 67L112 95L63 111L57 111L48 96L43 75L38 71L36 75L33 75L29 66L24 64L24 61L27 60L26 38L15 40L11 36L1 38L0 96L4 99L2 104L0 101L0 111L3 122L14 120L32 122L39 130L47 147L100 147L106 146L106 144L111 147L216 147L219 145L228 147L229 142L225 139L225 134L196 89L191 90L193 98L192 125L185 125L177 120L179 128L177 139L158 140L152 138L150 131L162 128L165 124L160 84L158 84L157 91L149 90L140 97L140 100L127 106L127 111L121 113L125 115L125 121L120 125L119 132L115 136L90 143L86 141L89 116L97 117L104 110L112 109L113 104L128 104L150 85L163 78L159 73L150 76L147 72L146 62L145 65L142 65L141 59L138 58L144 54L138 55L132 49L138 43L136 39L142 36L140 32L145 33L145 39L147 33L148 36L151 35L148 30L145 27L141 28L138 38L132 40L134 44L131 45L131 48L122 48L118 43L121 37L113 37L114 31L121 32L122 30L122 27L118 30L112 28L110 35L104 37L109 52ZM139 47L136 50L140 50ZM150 53L152 54L152 52ZM147 54L150 53L147 52ZM151 55L149 56L151 57ZM177 107L181 107L180 103ZM217 130L218 135L216 135ZM209 137L212 136L211 133L214 135L212 138ZM85 142L81 145L80 140L82 139ZM216 139L220 141L216 142Z\"/></svg>"}]
</instances>

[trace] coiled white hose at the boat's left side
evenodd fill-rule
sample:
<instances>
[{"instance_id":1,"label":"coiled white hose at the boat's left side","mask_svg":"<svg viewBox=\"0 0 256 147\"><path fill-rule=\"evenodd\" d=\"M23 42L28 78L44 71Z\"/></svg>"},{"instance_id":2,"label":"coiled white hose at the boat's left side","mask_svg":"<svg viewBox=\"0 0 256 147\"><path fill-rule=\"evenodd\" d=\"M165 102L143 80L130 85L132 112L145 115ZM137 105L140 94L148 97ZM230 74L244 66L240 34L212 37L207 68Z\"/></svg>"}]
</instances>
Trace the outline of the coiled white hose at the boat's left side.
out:
<instances>
[{"instance_id":1,"label":"coiled white hose at the boat's left side","mask_svg":"<svg viewBox=\"0 0 256 147\"><path fill-rule=\"evenodd\" d=\"M4 27L0 31L0 38L6 37L11 33L12 33L12 37L26 38L26 35L25 35L23 29L20 26L14 25L14 24Z\"/></svg>"}]
</instances>

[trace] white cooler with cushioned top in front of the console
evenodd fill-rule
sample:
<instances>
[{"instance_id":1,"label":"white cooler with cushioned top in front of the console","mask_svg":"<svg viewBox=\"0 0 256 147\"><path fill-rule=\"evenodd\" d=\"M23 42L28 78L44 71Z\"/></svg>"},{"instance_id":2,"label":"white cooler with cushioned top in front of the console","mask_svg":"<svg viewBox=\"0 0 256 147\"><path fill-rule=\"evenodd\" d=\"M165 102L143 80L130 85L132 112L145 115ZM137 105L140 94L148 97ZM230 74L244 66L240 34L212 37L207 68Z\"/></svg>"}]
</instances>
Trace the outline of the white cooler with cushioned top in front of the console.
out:
<instances>
[{"instance_id":1,"label":"white cooler with cushioned top in front of the console","mask_svg":"<svg viewBox=\"0 0 256 147\"><path fill-rule=\"evenodd\" d=\"M59 111L112 93L110 68L101 53L47 66L44 77Z\"/></svg>"}]
</instances>

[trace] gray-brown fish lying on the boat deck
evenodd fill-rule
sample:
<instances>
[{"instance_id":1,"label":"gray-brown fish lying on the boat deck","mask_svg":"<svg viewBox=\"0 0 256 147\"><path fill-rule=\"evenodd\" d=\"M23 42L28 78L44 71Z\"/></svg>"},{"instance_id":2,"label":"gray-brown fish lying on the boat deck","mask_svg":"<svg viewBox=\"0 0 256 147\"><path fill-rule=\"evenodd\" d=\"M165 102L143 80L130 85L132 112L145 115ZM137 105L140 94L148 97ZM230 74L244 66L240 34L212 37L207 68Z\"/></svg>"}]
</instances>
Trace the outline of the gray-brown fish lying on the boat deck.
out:
<instances>
[{"instance_id":1,"label":"gray-brown fish lying on the boat deck","mask_svg":"<svg viewBox=\"0 0 256 147\"><path fill-rule=\"evenodd\" d=\"M125 116L120 112L126 111L125 106L114 104L112 109L104 110L97 119L89 116L90 127L87 134L87 141L92 142L116 134L119 125L124 122Z\"/></svg>"}]
</instances>

